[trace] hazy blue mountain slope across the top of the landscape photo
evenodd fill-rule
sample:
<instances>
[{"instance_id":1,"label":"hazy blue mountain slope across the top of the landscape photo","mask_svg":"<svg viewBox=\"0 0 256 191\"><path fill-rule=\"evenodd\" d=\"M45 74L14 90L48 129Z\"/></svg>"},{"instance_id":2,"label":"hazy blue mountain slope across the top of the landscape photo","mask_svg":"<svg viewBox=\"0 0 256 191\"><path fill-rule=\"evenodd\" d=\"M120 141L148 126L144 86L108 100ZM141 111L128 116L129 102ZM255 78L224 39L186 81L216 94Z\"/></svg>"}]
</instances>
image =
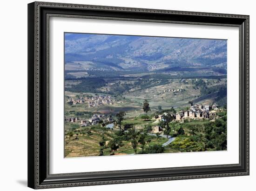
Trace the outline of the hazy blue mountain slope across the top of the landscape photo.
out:
<instances>
[{"instance_id":1,"label":"hazy blue mountain slope across the top of the landscape photo","mask_svg":"<svg viewBox=\"0 0 256 191\"><path fill-rule=\"evenodd\" d=\"M66 64L149 71L172 67L217 66L226 69L227 41L102 34L65 34Z\"/></svg>"}]
</instances>

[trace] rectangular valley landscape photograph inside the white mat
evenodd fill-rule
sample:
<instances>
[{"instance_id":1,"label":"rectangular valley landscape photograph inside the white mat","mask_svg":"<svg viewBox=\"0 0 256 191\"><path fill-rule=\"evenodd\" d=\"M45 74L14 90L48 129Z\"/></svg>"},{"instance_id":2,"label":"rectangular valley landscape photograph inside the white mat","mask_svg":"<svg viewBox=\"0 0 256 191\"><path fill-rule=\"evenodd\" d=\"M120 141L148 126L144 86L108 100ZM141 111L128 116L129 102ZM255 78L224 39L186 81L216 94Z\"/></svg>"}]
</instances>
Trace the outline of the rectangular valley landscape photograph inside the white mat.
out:
<instances>
[{"instance_id":1,"label":"rectangular valley landscape photograph inside the white mat","mask_svg":"<svg viewBox=\"0 0 256 191\"><path fill-rule=\"evenodd\" d=\"M227 40L64 33L64 50L65 158L227 150Z\"/></svg>"}]
</instances>

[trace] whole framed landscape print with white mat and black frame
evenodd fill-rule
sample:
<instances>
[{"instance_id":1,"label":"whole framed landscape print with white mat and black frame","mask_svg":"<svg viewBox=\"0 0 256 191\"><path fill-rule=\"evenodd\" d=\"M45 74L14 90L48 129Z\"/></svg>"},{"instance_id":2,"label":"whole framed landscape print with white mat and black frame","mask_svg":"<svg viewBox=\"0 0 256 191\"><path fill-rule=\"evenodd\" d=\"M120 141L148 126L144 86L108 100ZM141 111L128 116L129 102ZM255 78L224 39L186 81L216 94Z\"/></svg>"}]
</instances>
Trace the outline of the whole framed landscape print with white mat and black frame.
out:
<instances>
[{"instance_id":1,"label":"whole framed landscape print with white mat and black frame","mask_svg":"<svg viewBox=\"0 0 256 191\"><path fill-rule=\"evenodd\" d=\"M28 4L28 186L249 175L249 16Z\"/></svg>"}]
</instances>

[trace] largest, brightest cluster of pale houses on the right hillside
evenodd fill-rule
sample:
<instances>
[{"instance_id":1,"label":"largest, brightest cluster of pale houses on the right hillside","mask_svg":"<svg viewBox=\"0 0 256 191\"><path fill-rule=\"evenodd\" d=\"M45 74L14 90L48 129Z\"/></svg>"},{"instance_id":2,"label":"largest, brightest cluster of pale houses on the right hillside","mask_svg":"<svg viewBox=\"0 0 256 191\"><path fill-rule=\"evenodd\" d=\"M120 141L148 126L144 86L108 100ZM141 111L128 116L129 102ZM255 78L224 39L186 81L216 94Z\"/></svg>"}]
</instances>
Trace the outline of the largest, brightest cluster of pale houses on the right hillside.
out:
<instances>
[{"instance_id":1,"label":"largest, brightest cluster of pale houses on the right hillside","mask_svg":"<svg viewBox=\"0 0 256 191\"><path fill-rule=\"evenodd\" d=\"M182 119L209 119L215 112L209 113L211 110L218 110L217 105L192 105L188 111L179 111L175 114L177 121Z\"/></svg>"}]
</instances>

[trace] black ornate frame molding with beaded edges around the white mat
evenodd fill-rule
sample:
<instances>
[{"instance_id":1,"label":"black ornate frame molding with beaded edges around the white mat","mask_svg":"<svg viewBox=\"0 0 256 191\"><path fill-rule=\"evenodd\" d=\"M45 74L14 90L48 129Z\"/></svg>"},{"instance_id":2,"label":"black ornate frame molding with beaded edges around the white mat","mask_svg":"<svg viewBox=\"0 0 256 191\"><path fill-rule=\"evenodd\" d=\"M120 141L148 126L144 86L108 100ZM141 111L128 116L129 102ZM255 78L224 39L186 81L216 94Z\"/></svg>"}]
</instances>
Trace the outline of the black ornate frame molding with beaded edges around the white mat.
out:
<instances>
[{"instance_id":1,"label":"black ornate frame molding with beaded edges around the white mat","mask_svg":"<svg viewBox=\"0 0 256 191\"><path fill-rule=\"evenodd\" d=\"M54 13L53 13L54 12ZM131 14L132 13L132 14ZM239 164L49 174L49 18L239 27ZM154 19L152 19L154 18ZM155 19L158 18L158 19ZM203 169L203 171L202 171ZM208 171L205 172L205 169ZM124 176L120 178L120 175ZM28 186L34 189L249 175L249 16L130 7L28 4ZM102 176L104 178L102 178ZM126 177L125 177L126 176ZM101 178L100 178L101 177Z\"/></svg>"}]
</instances>

